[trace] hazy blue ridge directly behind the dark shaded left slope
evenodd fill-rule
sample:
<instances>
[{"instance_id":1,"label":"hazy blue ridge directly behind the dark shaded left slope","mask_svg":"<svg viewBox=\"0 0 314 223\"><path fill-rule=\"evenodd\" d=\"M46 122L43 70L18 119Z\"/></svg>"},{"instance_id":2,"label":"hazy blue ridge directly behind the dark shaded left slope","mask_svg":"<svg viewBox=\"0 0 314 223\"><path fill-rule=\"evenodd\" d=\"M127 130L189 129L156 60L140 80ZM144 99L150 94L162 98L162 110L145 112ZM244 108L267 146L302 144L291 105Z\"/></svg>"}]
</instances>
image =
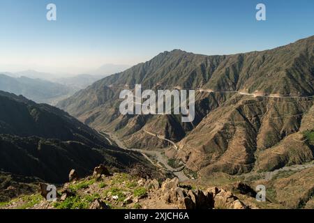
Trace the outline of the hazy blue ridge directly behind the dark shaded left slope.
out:
<instances>
[{"instance_id":1,"label":"hazy blue ridge directly behind the dark shaded left slope","mask_svg":"<svg viewBox=\"0 0 314 223\"><path fill-rule=\"evenodd\" d=\"M63 84L29 77L9 77L0 74L0 90L24 95L38 103L52 103L58 98L66 98L74 93L74 89Z\"/></svg>"}]
</instances>

